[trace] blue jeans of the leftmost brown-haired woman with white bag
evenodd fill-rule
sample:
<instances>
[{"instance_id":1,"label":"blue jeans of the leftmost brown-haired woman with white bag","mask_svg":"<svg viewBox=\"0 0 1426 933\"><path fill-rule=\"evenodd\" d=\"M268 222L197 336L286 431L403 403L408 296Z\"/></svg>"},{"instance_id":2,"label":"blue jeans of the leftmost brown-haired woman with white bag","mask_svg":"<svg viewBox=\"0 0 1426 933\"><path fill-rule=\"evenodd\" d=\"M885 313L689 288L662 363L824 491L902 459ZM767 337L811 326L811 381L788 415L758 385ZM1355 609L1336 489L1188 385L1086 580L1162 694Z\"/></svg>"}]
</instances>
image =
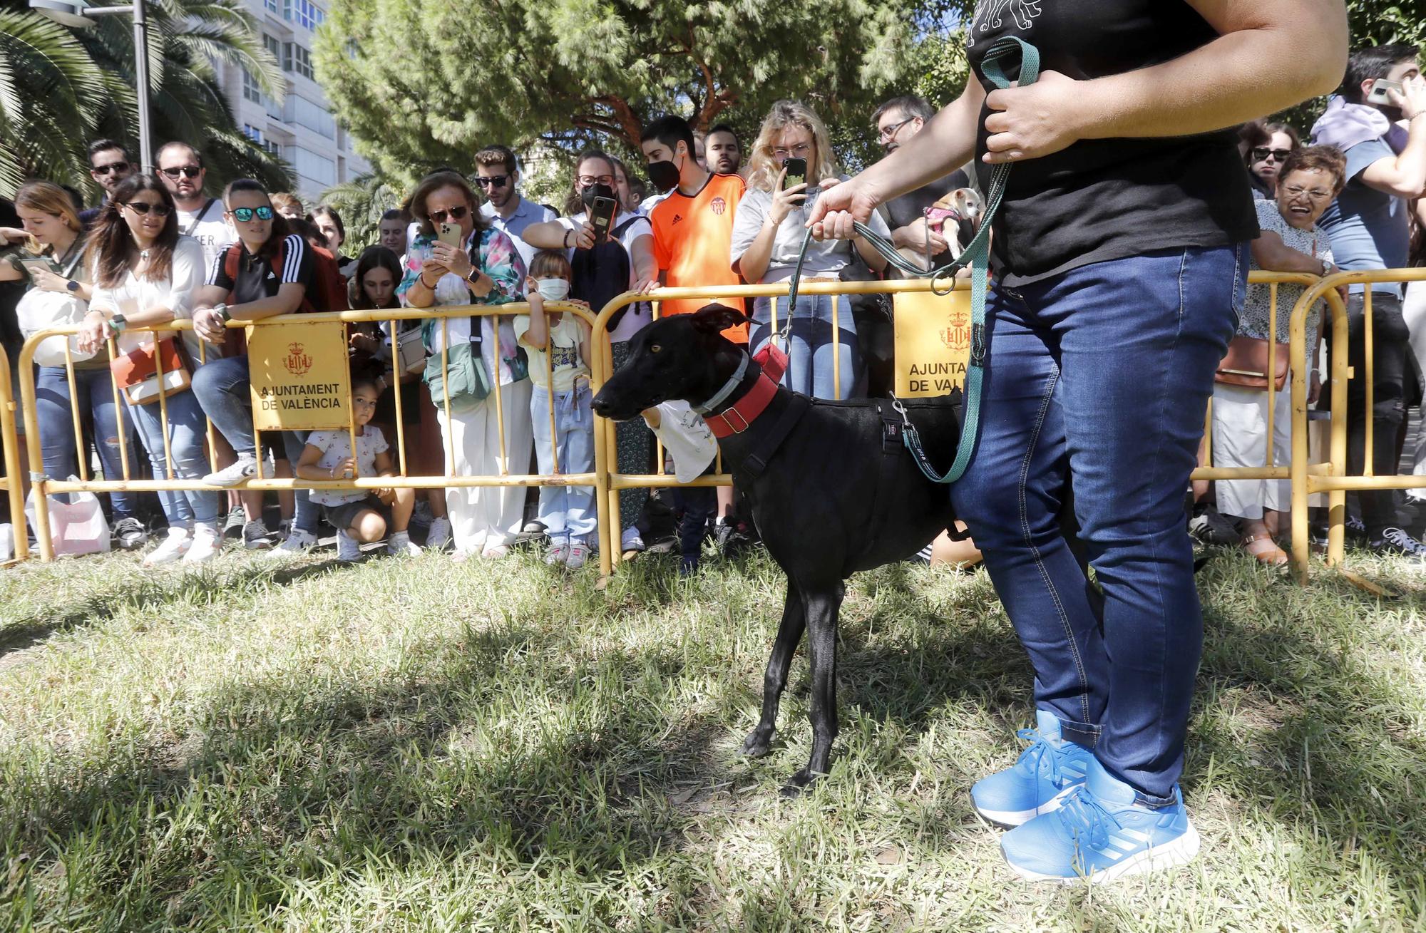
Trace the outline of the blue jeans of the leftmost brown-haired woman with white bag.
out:
<instances>
[{"instance_id":1,"label":"blue jeans of the leftmost brown-haired woman with white bag","mask_svg":"<svg viewBox=\"0 0 1426 933\"><path fill-rule=\"evenodd\" d=\"M123 419L124 442L128 445L130 472L138 457L138 442L134 438L134 422L128 409L114 405L114 385L108 367L103 369L74 369L74 404L80 411L80 427L86 437L93 437L98 448L98 462L106 479L124 479L124 461L118 449L118 421ZM40 455L44 472L51 479L68 479L78 475L78 461L74 447L74 415L70 411L70 382L64 367L40 367L34 382L36 419L40 422ZM88 451L84 451L88 462ZM133 492L110 492L114 519L133 518L135 495Z\"/></svg>"}]
</instances>

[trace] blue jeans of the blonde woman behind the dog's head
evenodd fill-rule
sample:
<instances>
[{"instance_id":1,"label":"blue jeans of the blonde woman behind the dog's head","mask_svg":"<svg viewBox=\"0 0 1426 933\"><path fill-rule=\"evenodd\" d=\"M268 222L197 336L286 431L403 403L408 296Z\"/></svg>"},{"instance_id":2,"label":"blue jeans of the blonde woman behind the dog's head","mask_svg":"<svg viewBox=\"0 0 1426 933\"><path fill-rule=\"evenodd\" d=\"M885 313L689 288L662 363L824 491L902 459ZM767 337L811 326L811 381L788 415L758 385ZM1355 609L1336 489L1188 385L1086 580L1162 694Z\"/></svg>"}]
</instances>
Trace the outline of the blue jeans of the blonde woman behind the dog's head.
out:
<instances>
[{"instance_id":1,"label":"blue jeans of the blonde woman behind the dog's head","mask_svg":"<svg viewBox=\"0 0 1426 933\"><path fill-rule=\"evenodd\" d=\"M747 342L752 352L767 345L773 335L773 304L770 298L753 302L753 332ZM777 330L787 322L787 302L777 304ZM783 385L813 398L851 398L861 388L861 352L857 348L857 322L851 317L851 301L837 300L837 352L831 347L831 295L801 295L793 328L789 334L787 372ZM780 345L780 344L779 344ZM837 389L833 360L841 360L841 392Z\"/></svg>"}]
</instances>

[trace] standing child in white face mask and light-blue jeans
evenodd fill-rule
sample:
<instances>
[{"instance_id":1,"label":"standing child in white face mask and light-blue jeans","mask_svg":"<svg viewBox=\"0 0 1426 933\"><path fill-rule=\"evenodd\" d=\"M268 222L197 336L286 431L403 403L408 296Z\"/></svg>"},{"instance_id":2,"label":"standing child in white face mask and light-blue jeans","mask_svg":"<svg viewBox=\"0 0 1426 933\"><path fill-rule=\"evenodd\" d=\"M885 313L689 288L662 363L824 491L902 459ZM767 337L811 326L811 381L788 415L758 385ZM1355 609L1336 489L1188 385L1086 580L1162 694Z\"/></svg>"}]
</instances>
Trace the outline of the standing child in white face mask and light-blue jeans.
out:
<instances>
[{"instance_id":1,"label":"standing child in white face mask and light-blue jeans","mask_svg":"<svg viewBox=\"0 0 1426 933\"><path fill-rule=\"evenodd\" d=\"M553 321L545 314L546 301L569 297L570 277L563 253L538 253L525 281L530 312L515 318L515 337L529 354L535 457L540 474L546 475L589 472L595 462L589 324L575 314L560 314ZM593 486L540 486L539 521L550 541L545 562L579 569L589 559L589 544L597 522Z\"/></svg>"}]
</instances>

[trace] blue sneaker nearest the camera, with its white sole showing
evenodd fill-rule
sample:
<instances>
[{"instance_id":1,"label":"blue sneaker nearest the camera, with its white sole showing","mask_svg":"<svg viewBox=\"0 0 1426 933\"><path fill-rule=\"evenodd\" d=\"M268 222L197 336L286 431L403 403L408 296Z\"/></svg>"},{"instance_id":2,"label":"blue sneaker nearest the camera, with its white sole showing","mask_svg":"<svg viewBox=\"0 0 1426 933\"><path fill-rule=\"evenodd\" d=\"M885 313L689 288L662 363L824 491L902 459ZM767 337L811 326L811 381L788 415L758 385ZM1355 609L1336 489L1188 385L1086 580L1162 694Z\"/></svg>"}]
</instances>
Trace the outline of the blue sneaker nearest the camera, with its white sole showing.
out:
<instances>
[{"instance_id":1,"label":"blue sneaker nearest the camera, with its white sole showing","mask_svg":"<svg viewBox=\"0 0 1426 933\"><path fill-rule=\"evenodd\" d=\"M1184 793L1175 786L1172 806L1158 809L1134 803L1134 787L1091 759L1084 786L1058 812L1005 833L1001 855L1027 880L1062 884L1099 884L1192 862L1198 830Z\"/></svg>"}]
</instances>

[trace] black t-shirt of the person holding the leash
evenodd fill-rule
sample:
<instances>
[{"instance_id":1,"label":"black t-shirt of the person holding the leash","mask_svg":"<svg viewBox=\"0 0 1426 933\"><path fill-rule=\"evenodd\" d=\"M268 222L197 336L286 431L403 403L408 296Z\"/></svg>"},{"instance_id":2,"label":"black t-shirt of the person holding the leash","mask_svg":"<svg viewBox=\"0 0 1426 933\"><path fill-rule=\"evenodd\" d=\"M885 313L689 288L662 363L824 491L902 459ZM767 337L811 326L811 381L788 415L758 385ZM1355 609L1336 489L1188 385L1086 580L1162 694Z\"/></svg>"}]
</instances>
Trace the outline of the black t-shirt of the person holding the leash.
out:
<instances>
[{"instance_id":1,"label":"black t-shirt of the person holding the leash","mask_svg":"<svg viewBox=\"0 0 1426 933\"><path fill-rule=\"evenodd\" d=\"M1040 50L1041 71L1075 80L1178 58L1218 33L1184 0L981 0L967 34L971 67L1001 36ZM1011 78L1018 66L1007 67ZM990 185L981 110L975 171ZM1022 285L1079 265L1155 250L1252 240L1258 220L1231 130L1189 137L1081 140L1015 164L995 218L1001 281Z\"/></svg>"}]
</instances>

